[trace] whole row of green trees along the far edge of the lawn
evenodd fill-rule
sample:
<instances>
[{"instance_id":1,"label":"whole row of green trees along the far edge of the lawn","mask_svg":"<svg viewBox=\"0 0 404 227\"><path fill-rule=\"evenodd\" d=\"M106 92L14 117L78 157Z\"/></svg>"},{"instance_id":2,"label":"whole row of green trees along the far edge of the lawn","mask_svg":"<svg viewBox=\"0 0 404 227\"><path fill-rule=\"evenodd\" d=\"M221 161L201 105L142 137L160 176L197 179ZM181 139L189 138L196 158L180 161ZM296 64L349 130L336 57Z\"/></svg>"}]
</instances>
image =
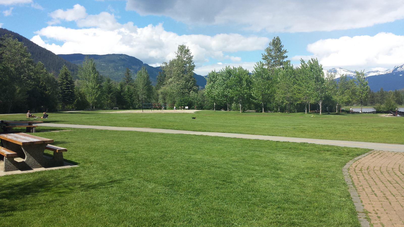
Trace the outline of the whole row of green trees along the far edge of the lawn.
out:
<instances>
[{"instance_id":1,"label":"whole row of green trees along the far edge of the lawn","mask_svg":"<svg viewBox=\"0 0 404 227\"><path fill-rule=\"evenodd\" d=\"M335 80L335 74L324 75L314 58L307 62L301 59L300 65L293 67L286 60L287 50L279 37L269 43L251 73L241 66L213 70L206 77L205 89L196 85L193 55L185 45L178 46L174 59L162 63L156 86L151 85L145 67L136 73L126 68L122 80L115 82L99 74L94 60L88 57L78 66L78 79L73 79L66 65L55 77L41 62L35 64L26 47L11 36L2 36L0 46L0 113L141 109L143 103L240 112L322 113L352 103L375 107L378 103L382 109L391 109L403 101L402 92L370 91L363 71L356 71L354 79L342 75ZM389 98L391 94L394 99Z\"/></svg>"}]
</instances>

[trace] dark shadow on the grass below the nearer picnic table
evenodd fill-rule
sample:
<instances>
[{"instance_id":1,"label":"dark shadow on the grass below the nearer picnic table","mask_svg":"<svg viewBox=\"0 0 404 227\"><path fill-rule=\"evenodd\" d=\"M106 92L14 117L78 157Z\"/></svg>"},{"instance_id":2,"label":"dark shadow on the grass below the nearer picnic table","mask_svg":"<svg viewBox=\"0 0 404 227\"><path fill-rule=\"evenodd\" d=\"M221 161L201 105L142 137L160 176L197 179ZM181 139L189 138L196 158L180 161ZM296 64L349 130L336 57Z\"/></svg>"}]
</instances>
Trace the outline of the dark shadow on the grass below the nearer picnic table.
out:
<instances>
[{"instance_id":1,"label":"dark shadow on the grass below the nearer picnic table","mask_svg":"<svg viewBox=\"0 0 404 227\"><path fill-rule=\"evenodd\" d=\"M59 178L53 176L51 179L32 177L18 182L7 181L3 183L0 191L0 216L13 216L14 212L32 209L33 205L25 198L43 196L44 200L36 200L36 205L41 206L52 202L63 202L61 198L70 193L75 193L75 191L85 192L108 189L121 181L104 179L97 183L82 182L78 176L72 174ZM18 204L14 202L21 200L25 200L25 202L19 202Z\"/></svg>"}]
</instances>

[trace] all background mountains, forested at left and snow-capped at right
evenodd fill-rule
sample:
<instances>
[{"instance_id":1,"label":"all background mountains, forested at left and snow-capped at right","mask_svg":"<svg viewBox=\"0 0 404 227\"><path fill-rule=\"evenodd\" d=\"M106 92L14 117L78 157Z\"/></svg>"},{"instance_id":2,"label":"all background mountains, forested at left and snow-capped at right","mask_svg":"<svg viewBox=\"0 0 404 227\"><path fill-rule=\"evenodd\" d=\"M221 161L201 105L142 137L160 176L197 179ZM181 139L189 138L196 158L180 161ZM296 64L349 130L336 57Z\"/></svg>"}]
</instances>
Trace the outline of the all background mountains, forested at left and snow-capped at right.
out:
<instances>
[{"instance_id":1,"label":"all background mountains, forested at left and snow-capped at right","mask_svg":"<svg viewBox=\"0 0 404 227\"><path fill-rule=\"evenodd\" d=\"M0 36L9 34L13 38L17 38L20 42L27 47L27 51L31 53L31 58L35 63L41 61L44 63L46 69L53 73L55 76L59 74L59 70L63 65L72 71L74 78L77 78L78 65L81 65L86 55L83 54L69 54L69 55L55 55L49 50L38 46L31 40L15 33L10 30L0 28ZM152 67L143 63L141 60L124 54L109 54L109 55L88 55L93 58L96 63L97 70L103 76L109 76L112 80L122 80L126 68L129 68L133 75L137 71L145 66L150 80L153 85L156 84L156 78L158 72L161 71L160 67ZM349 78L355 76L355 71L350 71L343 68L333 68L324 70L326 73L336 73L336 78L339 78L342 74L346 74ZM370 89L372 91L378 91L383 87L384 90L400 90L404 88L404 64L396 66L393 69L387 69L386 71L368 71L365 73L366 79L369 82ZM194 74L196 83L199 86L204 87L206 85L206 79L204 76ZM338 79L337 79L338 80Z\"/></svg>"}]
</instances>

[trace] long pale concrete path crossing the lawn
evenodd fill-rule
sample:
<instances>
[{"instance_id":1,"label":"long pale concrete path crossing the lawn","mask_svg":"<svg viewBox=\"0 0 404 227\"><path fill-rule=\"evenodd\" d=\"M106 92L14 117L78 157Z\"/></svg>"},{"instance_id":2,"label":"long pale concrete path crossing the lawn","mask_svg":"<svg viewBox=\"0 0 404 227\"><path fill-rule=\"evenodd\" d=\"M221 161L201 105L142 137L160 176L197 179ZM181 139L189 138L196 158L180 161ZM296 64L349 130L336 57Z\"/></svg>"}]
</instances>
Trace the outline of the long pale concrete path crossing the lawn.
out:
<instances>
[{"instance_id":1,"label":"long pale concrete path crossing the lawn","mask_svg":"<svg viewBox=\"0 0 404 227\"><path fill-rule=\"evenodd\" d=\"M404 145L389 144L389 143L368 143L368 142L340 141L340 140L327 140L327 139L275 137L275 136L247 135L247 134L225 133L225 132L196 132L196 131L160 129L160 128L132 128L132 127L96 126L96 125L80 125L80 124L53 124L53 123L41 123L38 125L49 126L49 127L60 127L60 128L93 128L93 129L103 129L103 130L160 132L160 133L175 133L175 134L206 135L206 136L217 136L217 137L233 137L233 138L244 138L244 139L262 139L262 140L272 140L272 141L288 141L288 142L296 142L296 143L315 143L315 144L322 144L322 145L335 145L335 146L340 146L340 147L358 147L358 148L373 149L373 150L378 150L378 151L404 152Z\"/></svg>"}]
</instances>

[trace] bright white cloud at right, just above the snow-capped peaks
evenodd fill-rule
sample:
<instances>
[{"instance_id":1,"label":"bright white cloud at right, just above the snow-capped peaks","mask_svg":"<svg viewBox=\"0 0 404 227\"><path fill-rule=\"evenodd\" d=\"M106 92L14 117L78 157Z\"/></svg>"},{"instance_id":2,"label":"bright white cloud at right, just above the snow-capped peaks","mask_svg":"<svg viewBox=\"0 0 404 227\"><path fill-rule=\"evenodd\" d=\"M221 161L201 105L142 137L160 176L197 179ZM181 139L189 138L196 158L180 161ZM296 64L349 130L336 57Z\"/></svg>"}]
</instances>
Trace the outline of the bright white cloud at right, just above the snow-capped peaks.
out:
<instances>
[{"instance_id":1,"label":"bright white cloud at right, just above the snow-capped peaks","mask_svg":"<svg viewBox=\"0 0 404 227\"><path fill-rule=\"evenodd\" d=\"M339 39L318 40L307 45L307 50L313 55L295 56L292 60L317 57L326 69L391 68L404 63L404 36L385 32L375 36L343 36Z\"/></svg>"}]
</instances>

